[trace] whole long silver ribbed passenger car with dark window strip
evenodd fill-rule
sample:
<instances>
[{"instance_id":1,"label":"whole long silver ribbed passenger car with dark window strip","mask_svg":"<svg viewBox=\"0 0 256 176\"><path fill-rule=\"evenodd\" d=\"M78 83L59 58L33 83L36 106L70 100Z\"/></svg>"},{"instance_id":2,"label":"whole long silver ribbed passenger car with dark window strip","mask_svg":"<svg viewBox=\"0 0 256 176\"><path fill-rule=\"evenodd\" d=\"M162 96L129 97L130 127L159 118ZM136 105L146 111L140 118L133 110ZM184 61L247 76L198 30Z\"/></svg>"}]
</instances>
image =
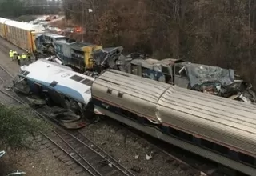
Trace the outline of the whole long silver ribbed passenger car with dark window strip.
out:
<instances>
[{"instance_id":1,"label":"whole long silver ribbed passenger car with dark window strip","mask_svg":"<svg viewBox=\"0 0 256 176\"><path fill-rule=\"evenodd\" d=\"M102 114L248 175L256 173L256 106L117 70L92 86Z\"/></svg>"}]
</instances>

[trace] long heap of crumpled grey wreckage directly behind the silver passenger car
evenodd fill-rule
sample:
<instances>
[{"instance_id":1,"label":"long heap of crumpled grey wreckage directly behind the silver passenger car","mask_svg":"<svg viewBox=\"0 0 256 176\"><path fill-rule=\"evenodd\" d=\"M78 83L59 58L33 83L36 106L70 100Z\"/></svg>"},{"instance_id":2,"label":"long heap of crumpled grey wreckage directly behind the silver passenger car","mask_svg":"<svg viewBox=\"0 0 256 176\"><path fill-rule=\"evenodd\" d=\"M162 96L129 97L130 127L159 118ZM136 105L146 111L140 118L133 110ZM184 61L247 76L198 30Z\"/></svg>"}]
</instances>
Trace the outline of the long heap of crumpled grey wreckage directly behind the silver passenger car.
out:
<instances>
[{"instance_id":1,"label":"long heap of crumpled grey wreckage directly behind the silver passenger car","mask_svg":"<svg viewBox=\"0 0 256 176\"><path fill-rule=\"evenodd\" d=\"M190 90L214 94L242 102L255 103L251 84L244 82L232 69L186 62L182 59L136 58L126 70L159 82L175 84Z\"/></svg>"}]
</instances>

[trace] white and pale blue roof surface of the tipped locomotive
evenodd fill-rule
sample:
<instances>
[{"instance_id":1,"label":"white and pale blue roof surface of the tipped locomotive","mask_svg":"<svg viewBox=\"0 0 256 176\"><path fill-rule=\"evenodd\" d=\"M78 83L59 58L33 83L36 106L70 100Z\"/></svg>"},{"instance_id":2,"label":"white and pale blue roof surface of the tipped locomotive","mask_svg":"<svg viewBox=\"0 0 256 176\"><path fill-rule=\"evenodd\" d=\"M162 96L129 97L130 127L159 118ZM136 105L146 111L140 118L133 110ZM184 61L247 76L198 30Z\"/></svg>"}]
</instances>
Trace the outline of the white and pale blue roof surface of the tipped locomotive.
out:
<instances>
[{"instance_id":1,"label":"white and pale blue roof surface of the tipped locomotive","mask_svg":"<svg viewBox=\"0 0 256 176\"><path fill-rule=\"evenodd\" d=\"M52 86L58 92L66 94L78 102L90 101L90 87L94 78L78 74L70 67L40 59L29 66L22 66L22 73L27 79L44 86ZM54 85L54 86L53 86Z\"/></svg>"}]
</instances>

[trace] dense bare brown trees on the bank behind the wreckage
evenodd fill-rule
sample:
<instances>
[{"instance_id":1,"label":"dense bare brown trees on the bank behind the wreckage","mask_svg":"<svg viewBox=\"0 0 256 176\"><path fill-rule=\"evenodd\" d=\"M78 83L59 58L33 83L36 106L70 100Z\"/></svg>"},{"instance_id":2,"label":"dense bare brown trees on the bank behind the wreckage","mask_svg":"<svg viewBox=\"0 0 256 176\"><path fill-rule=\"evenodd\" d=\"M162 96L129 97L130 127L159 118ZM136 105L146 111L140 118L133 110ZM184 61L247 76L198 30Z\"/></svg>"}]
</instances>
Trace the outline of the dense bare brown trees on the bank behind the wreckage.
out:
<instances>
[{"instance_id":1,"label":"dense bare brown trees on the bank behind the wreckage","mask_svg":"<svg viewBox=\"0 0 256 176\"><path fill-rule=\"evenodd\" d=\"M64 1L66 17L86 28L88 42L231 67L254 87L255 6L255 0Z\"/></svg>"}]
</instances>

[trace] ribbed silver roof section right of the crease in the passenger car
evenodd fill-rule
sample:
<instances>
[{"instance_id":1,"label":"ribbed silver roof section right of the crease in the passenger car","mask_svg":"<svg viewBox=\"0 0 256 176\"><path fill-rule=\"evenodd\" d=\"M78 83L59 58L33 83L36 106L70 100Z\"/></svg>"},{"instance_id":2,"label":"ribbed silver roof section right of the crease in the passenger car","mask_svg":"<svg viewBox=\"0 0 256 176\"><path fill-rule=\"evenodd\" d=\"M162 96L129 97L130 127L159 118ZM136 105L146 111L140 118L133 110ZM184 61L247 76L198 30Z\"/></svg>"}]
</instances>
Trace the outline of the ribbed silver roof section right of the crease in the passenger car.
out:
<instances>
[{"instance_id":1,"label":"ribbed silver roof section right of the crease in the passenger car","mask_svg":"<svg viewBox=\"0 0 256 176\"><path fill-rule=\"evenodd\" d=\"M256 155L255 106L177 86L161 101L163 122Z\"/></svg>"}]
</instances>

